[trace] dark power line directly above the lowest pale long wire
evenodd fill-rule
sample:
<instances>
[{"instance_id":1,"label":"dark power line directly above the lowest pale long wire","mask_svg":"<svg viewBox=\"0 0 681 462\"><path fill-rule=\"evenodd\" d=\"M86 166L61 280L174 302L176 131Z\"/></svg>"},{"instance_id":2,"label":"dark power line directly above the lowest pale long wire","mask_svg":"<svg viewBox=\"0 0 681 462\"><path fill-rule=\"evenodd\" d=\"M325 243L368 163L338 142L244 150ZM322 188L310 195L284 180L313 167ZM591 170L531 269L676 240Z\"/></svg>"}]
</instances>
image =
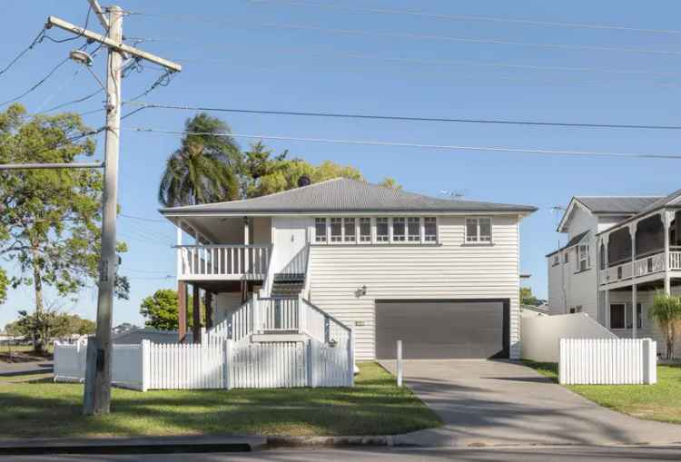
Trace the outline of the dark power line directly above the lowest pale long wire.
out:
<instances>
[{"instance_id":1,"label":"dark power line directly above the lowest pale long wire","mask_svg":"<svg viewBox=\"0 0 681 462\"><path fill-rule=\"evenodd\" d=\"M252 113L265 115L291 115L303 117L326 117L342 119L368 119L403 122L441 122L441 123L489 123L502 125L529 125L529 126L553 126L566 128L611 128L611 129L637 129L637 130L681 130L681 125L656 125L656 124L627 124L627 123L567 123L567 122L541 122L541 121L518 121L508 119L467 119L447 117L410 117L398 115L376 115L360 113L314 113L302 111L272 111L238 108L222 108L211 106L187 106L177 104L137 103L124 102L124 104L139 105L140 108L174 109L182 111L206 111L218 113Z\"/></svg>"}]
</instances>

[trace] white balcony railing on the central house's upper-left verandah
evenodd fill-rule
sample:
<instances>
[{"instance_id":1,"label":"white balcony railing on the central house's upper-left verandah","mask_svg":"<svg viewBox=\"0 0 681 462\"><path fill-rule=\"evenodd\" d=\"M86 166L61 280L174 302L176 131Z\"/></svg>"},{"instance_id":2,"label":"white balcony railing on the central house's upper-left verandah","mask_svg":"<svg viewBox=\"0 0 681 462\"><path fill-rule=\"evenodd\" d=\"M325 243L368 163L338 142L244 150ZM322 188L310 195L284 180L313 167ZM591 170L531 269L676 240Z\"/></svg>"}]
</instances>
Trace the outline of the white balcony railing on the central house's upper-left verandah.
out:
<instances>
[{"instance_id":1,"label":"white balcony railing on the central house's upper-left verandah","mask_svg":"<svg viewBox=\"0 0 681 462\"><path fill-rule=\"evenodd\" d=\"M271 258L271 245L183 245L177 251L184 280L262 280Z\"/></svg>"}]
</instances>

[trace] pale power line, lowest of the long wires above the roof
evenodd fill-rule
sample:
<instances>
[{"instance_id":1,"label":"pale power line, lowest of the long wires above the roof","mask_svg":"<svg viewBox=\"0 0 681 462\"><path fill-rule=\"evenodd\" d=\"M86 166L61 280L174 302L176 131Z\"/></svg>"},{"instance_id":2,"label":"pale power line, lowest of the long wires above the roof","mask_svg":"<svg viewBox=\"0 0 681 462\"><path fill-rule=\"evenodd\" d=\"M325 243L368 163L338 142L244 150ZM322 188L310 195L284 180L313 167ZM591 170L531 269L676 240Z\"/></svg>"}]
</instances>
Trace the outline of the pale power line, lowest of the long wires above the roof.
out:
<instances>
[{"instance_id":1,"label":"pale power line, lowest of the long wires above the roof","mask_svg":"<svg viewBox=\"0 0 681 462\"><path fill-rule=\"evenodd\" d=\"M597 151L573 151L573 150L550 150L540 148L515 148L502 146L463 146L455 144L424 144L424 143L400 143L400 142L385 142L385 141L363 141L363 140L343 140L343 139L329 139L329 138L307 138L298 136L280 136L280 135L263 135L263 134L245 134L245 133L208 133L208 132L178 132L173 130L160 130L153 128L140 127L122 127L122 130L128 130L140 133L163 133L163 134L192 134L203 135L211 134L213 136L231 136L233 138L249 138L261 140L276 140L276 141L290 141L290 142L306 142L306 143L333 143L333 144L353 144L353 145L367 145L367 146L393 146L419 149L437 149L445 151L488 151L488 152L514 152L514 153L530 153L541 155L558 155L558 156L573 156L573 157L610 157L621 159L655 159L655 160L681 160L681 154L665 154L665 153L643 153L643 152L597 152Z\"/></svg>"}]
</instances>

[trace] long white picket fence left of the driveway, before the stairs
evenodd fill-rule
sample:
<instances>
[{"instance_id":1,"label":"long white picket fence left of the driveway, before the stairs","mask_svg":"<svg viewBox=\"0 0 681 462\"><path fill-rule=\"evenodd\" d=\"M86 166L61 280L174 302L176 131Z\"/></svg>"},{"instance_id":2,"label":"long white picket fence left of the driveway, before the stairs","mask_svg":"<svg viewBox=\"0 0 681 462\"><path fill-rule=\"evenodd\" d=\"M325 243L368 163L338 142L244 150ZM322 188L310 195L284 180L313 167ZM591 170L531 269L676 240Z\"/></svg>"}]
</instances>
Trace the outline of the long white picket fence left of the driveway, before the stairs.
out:
<instances>
[{"instance_id":1,"label":"long white picket fence left of the driveway, before the stairs","mask_svg":"<svg viewBox=\"0 0 681 462\"><path fill-rule=\"evenodd\" d=\"M346 345L317 339L201 344L114 345L112 381L139 389L351 387L354 361ZM54 345L54 380L83 381L87 345Z\"/></svg>"}]
</instances>

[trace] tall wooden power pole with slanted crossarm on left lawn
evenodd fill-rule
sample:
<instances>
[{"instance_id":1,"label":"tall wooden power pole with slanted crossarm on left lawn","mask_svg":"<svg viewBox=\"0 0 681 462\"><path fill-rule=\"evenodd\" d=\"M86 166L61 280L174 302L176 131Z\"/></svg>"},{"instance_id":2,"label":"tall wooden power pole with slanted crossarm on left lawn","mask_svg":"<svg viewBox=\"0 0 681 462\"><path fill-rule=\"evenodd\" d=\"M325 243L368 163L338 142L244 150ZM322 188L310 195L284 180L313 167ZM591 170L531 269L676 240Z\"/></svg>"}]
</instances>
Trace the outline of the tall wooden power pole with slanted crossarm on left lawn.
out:
<instances>
[{"instance_id":1,"label":"tall wooden power pole with slanted crossarm on left lawn","mask_svg":"<svg viewBox=\"0 0 681 462\"><path fill-rule=\"evenodd\" d=\"M88 0L94 8L106 34L67 23L59 18L47 18L46 27L56 26L90 41L108 47L106 62L106 143L104 153L104 207L102 217L102 255L99 268L99 293L97 296L97 330L87 346L85 372L84 413L108 414L111 410L112 370L112 312L114 306L114 282L117 274L116 255L116 205L118 202L118 152L121 132L121 73L123 57L143 59L160 64L171 72L182 71L182 66L153 54L148 54L123 44L123 10L120 6L108 8L108 19L96 0Z\"/></svg>"}]
</instances>

